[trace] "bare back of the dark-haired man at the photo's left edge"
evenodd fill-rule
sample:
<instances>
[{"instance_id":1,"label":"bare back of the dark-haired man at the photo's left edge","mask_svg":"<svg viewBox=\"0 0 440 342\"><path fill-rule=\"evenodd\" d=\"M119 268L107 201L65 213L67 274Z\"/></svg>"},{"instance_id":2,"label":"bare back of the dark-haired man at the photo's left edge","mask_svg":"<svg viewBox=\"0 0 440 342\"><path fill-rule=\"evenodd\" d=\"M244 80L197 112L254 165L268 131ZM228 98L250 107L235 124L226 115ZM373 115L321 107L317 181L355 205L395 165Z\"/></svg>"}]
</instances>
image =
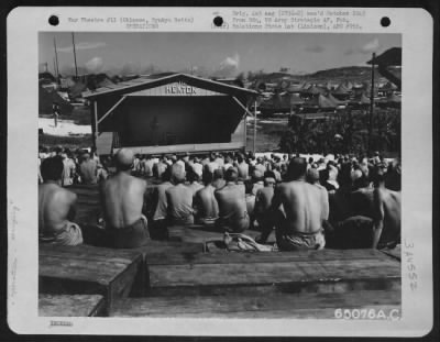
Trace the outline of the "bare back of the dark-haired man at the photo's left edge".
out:
<instances>
[{"instance_id":1,"label":"bare back of the dark-haired man at the photo's left edge","mask_svg":"<svg viewBox=\"0 0 440 342\"><path fill-rule=\"evenodd\" d=\"M75 216L77 196L55 183L38 185L38 228L44 233L62 231Z\"/></svg>"}]
</instances>

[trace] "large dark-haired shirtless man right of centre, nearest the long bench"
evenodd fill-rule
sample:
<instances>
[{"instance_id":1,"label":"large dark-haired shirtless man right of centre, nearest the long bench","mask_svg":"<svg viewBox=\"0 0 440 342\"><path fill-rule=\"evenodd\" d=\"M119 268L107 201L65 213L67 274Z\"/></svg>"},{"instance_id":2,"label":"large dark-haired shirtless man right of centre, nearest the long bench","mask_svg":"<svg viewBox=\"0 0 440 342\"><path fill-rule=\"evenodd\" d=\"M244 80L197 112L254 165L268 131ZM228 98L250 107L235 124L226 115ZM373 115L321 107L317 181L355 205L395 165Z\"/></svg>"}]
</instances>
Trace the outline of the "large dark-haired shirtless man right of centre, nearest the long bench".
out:
<instances>
[{"instance_id":1,"label":"large dark-haired shirtless man right of centre, nearest the long bench","mask_svg":"<svg viewBox=\"0 0 440 342\"><path fill-rule=\"evenodd\" d=\"M295 157L287 181L275 188L271 210L276 241L282 251L320 250L326 244L322 224L328 220L329 200L317 186L306 183L307 162ZM278 210L283 205L285 214Z\"/></svg>"}]
</instances>

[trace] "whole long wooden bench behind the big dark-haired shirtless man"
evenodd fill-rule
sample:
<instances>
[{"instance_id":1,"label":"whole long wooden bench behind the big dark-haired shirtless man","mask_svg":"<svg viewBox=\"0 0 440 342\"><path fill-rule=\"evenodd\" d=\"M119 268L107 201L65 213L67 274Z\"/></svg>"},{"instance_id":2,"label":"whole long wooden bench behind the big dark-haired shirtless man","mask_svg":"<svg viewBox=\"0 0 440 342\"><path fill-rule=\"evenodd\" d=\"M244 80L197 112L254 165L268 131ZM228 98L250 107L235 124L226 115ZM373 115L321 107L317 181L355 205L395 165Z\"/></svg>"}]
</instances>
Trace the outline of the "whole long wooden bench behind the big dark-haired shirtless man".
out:
<instances>
[{"instance_id":1,"label":"whole long wooden bench behind the big dark-haired shirtless man","mask_svg":"<svg viewBox=\"0 0 440 342\"><path fill-rule=\"evenodd\" d=\"M375 250L186 253L146 264L150 296L400 288L400 264Z\"/></svg>"}]
</instances>

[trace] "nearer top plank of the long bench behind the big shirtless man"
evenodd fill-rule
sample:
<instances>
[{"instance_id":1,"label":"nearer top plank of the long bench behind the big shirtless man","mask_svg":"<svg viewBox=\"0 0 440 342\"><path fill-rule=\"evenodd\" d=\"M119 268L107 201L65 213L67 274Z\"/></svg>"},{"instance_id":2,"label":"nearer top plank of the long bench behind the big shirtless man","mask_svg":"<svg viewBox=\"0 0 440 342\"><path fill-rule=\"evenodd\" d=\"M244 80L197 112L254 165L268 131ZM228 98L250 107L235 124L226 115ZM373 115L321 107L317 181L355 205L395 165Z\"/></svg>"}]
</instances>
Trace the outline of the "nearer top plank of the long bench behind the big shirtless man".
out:
<instances>
[{"instance_id":1,"label":"nearer top plank of the long bench behind the big shirtless man","mask_svg":"<svg viewBox=\"0 0 440 342\"><path fill-rule=\"evenodd\" d=\"M380 258L279 263L249 260L231 264L148 264L148 293L164 296L400 288L399 263L383 255Z\"/></svg>"}]
</instances>

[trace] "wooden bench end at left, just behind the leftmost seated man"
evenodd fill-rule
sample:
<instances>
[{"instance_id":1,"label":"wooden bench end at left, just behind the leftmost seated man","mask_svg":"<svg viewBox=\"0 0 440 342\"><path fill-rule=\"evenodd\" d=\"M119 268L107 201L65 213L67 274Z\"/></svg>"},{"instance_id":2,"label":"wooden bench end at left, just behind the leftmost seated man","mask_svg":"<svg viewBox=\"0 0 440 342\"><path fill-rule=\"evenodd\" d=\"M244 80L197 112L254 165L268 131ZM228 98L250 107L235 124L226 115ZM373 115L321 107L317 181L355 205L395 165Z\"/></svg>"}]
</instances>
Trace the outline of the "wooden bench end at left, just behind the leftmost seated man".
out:
<instances>
[{"instance_id":1,"label":"wooden bench end at left, just behind the leftmost seated man","mask_svg":"<svg viewBox=\"0 0 440 342\"><path fill-rule=\"evenodd\" d=\"M40 294L98 294L108 308L130 294L143 260L138 251L89 245L40 245L38 254Z\"/></svg>"}]
</instances>

